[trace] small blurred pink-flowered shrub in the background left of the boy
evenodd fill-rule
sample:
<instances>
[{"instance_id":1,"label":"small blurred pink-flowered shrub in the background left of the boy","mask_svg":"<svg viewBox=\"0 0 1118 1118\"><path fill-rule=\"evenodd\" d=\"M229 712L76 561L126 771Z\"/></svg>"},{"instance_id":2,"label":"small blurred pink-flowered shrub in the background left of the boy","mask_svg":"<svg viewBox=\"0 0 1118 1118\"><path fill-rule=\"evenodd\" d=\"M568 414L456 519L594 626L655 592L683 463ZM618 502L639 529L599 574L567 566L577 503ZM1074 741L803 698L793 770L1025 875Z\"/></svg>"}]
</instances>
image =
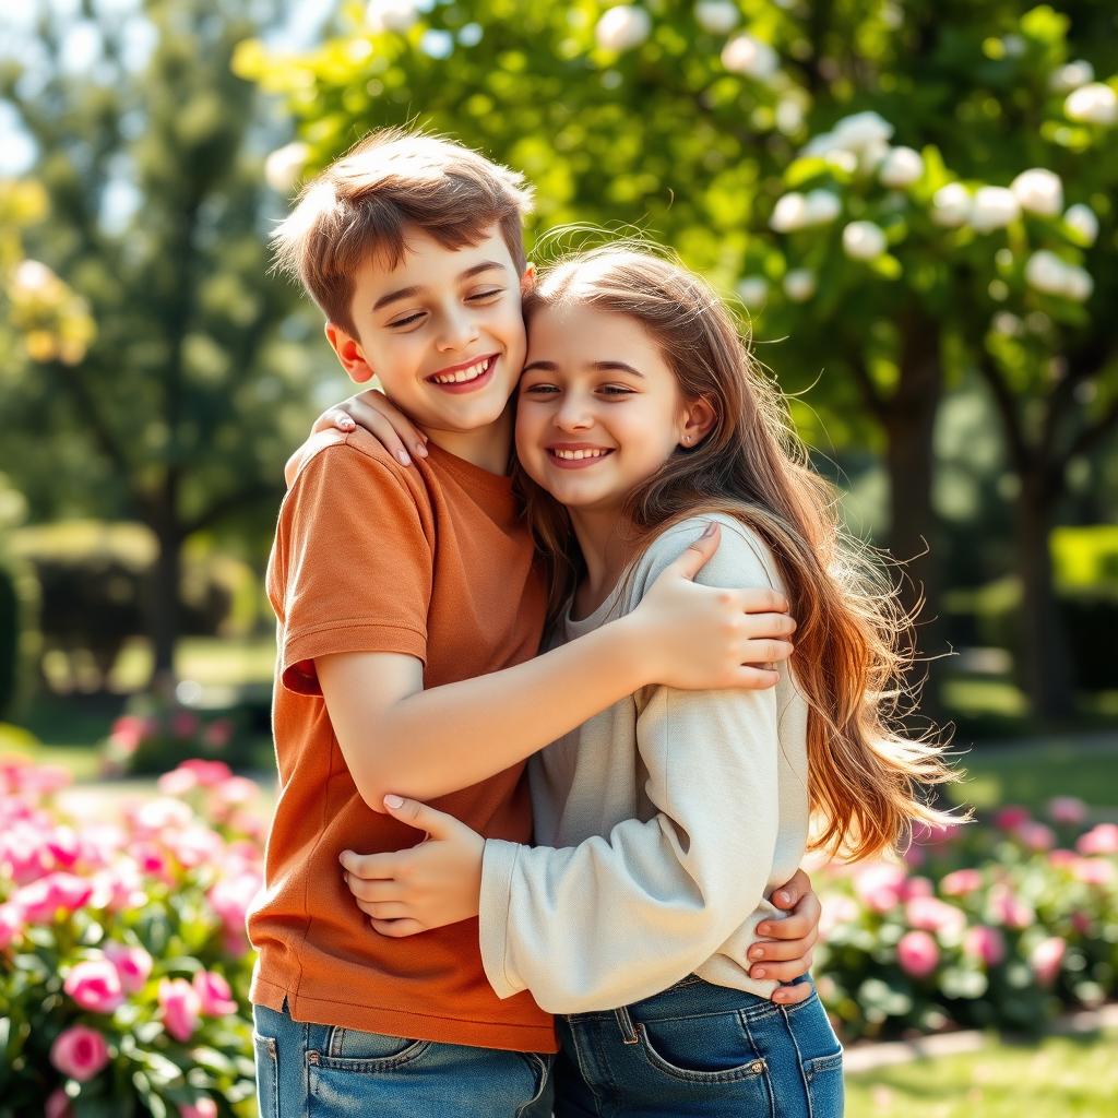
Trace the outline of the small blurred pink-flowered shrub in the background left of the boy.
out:
<instances>
[{"instance_id":1,"label":"small blurred pink-flowered shrub in the background left of the boy","mask_svg":"<svg viewBox=\"0 0 1118 1118\"><path fill-rule=\"evenodd\" d=\"M133 699L113 722L102 750L105 776L159 774L184 757L208 757L240 766L252 761L249 746L234 719L203 719L196 711L160 704L151 695Z\"/></svg>"}]
</instances>

